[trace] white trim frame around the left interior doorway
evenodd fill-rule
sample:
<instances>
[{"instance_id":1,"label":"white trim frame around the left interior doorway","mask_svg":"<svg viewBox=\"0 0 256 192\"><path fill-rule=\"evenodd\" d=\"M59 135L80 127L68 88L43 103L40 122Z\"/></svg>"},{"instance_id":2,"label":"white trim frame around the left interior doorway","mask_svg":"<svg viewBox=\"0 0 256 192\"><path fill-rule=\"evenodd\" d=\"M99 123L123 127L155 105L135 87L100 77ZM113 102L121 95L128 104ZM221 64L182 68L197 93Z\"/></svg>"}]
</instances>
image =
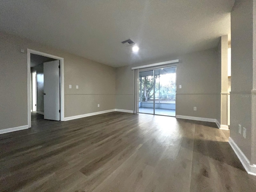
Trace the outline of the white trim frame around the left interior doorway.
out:
<instances>
[{"instance_id":1,"label":"white trim frame around the left interior doorway","mask_svg":"<svg viewBox=\"0 0 256 192\"><path fill-rule=\"evenodd\" d=\"M60 60L60 121L64 121L64 58L27 49L27 87L28 87L28 128L31 128L31 95L30 95L30 54L37 54Z\"/></svg>"}]
</instances>

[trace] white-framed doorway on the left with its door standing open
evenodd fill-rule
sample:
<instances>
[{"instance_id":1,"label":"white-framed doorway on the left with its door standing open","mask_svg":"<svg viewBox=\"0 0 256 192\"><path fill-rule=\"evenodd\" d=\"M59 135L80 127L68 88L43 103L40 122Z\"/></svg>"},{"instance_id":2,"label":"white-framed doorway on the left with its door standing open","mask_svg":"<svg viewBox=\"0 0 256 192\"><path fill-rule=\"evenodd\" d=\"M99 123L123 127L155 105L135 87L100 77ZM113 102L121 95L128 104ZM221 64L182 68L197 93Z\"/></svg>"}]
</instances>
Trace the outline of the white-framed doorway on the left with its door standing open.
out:
<instances>
[{"instance_id":1,"label":"white-framed doorway on the left with its door standing open","mask_svg":"<svg viewBox=\"0 0 256 192\"><path fill-rule=\"evenodd\" d=\"M28 49L29 127L31 119L64 121L64 62Z\"/></svg>"}]
</instances>

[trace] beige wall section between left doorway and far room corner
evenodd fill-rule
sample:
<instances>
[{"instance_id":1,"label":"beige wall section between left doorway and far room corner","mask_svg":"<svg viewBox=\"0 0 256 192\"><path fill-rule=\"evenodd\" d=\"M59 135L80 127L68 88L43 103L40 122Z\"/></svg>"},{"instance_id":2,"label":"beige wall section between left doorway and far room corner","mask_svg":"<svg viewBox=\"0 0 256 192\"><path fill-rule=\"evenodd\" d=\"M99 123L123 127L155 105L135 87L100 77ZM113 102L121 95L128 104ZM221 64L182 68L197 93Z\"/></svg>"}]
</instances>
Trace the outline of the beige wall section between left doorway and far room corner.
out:
<instances>
[{"instance_id":1,"label":"beige wall section between left doorway and far room corner","mask_svg":"<svg viewBox=\"0 0 256 192\"><path fill-rule=\"evenodd\" d=\"M75 55L64 58L64 64L65 117L115 108L115 68Z\"/></svg>"}]
</instances>

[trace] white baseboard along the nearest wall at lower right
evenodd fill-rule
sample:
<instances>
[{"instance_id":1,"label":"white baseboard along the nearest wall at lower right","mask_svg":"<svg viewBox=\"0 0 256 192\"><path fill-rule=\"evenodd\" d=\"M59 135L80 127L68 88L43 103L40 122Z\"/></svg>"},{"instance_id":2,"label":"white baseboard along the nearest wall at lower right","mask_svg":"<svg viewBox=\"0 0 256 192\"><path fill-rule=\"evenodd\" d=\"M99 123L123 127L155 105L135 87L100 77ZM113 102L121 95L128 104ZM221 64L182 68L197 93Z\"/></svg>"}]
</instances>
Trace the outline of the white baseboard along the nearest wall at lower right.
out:
<instances>
[{"instance_id":1,"label":"white baseboard along the nearest wall at lower right","mask_svg":"<svg viewBox=\"0 0 256 192\"><path fill-rule=\"evenodd\" d=\"M240 162L244 166L246 172L250 175L256 176L256 165L250 164L250 161L248 160L248 158L244 155L244 153L240 150L240 148L236 145L236 143L231 137L229 138L228 143L230 144L236 156L239 158Z\"/></svg>"}]
</instances>

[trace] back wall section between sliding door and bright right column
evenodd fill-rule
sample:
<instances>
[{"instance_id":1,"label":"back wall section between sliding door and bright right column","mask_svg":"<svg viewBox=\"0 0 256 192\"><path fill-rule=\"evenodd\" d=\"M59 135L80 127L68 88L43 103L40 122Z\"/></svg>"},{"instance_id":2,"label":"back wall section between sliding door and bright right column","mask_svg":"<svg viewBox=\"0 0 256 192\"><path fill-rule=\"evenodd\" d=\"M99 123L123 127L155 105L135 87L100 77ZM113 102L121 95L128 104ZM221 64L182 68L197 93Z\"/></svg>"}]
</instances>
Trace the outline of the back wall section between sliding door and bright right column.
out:
<instances>
[{"instance_id":1,"label":"back wall section between sliding door and bright right column","mask_svg":"<svg viewBox=\"0 0 256 192\"><path fill-rule=\"evenodd\" d=\"M218 87L217 50L205 50L179 56L177 64L176 115L202 118L217 118L217 102L220 97ZM197 107L197 111L193 107Z\"/></svg>"}]
</instances>

